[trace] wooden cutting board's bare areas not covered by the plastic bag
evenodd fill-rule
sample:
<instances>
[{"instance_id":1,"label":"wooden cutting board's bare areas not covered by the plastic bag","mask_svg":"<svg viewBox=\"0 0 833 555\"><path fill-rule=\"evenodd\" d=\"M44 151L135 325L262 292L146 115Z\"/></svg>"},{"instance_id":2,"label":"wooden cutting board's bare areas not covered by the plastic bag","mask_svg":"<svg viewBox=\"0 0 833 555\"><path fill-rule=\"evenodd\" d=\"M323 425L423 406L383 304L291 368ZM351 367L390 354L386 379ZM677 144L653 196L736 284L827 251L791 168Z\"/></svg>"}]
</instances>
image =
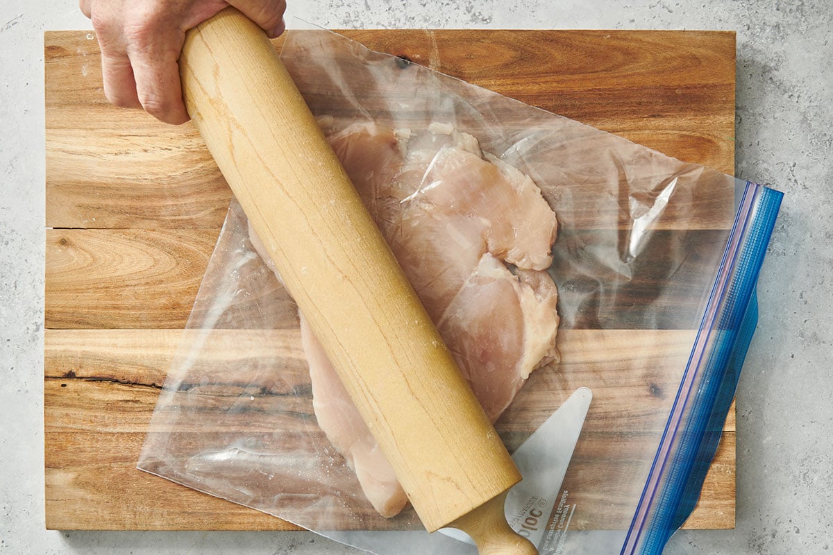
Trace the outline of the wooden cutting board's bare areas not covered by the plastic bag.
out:
<instances>
[{"instance_id":1,"label":"wooden cutting board's bare areas not covered by the plastic bag","mask_svg":"<svg viewBox=\"0 0 833 555\"><path fill-rule=\"evenodd\" d=\"M733 32L343 34L681 160L734 171ZM296 529L135 468L230 192L192 126L107 104L92 33L47 32L44 44L47 528ZM621 349L639 333L592 337L593 349L562 354L610 365L611 351L600 345ZM233 349L218 356L231 358ZM686 528L734 526L734 409L725 430Z\"/></svg>"}]
</instances>

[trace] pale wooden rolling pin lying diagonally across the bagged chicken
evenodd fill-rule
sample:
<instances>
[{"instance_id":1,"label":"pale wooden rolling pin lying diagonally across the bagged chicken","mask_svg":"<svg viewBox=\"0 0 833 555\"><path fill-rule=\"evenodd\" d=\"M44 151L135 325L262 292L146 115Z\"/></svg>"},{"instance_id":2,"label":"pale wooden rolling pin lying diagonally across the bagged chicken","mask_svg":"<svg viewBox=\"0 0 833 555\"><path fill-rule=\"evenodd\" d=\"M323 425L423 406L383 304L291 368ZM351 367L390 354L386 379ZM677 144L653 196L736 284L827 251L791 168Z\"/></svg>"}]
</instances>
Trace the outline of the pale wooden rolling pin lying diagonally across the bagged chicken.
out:
<instances>
[{"instance_id":1,"label":"pale wooden rolling pin lying diagonally across the bagged chicken","mask_svg":"<svg viewBox=\"0 0 833 555\"><path fill-rule=\"evenodd\" d=\"M229 8L187 33L188 113L429 532L537 553L521 476L266 34Z\"/></svg>"}]
</instances>

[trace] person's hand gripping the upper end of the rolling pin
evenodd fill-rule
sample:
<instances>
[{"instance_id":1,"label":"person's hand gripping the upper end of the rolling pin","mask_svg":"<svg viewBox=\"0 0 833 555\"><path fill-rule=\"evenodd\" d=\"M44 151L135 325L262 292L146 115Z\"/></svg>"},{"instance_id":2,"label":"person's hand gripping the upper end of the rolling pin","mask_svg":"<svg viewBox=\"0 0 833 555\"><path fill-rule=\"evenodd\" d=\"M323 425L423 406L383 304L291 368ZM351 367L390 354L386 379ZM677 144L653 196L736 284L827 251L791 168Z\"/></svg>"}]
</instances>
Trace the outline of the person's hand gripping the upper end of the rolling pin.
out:
<instances>
[{"instance_id":1,"label":"person's hand gripping the upper end of the rolling pin","mask_svg":"<svg viewBox=\"0 0 833 555\"><path fill-rule=\"evenodd\" d=\"M284 30L285 0L79 0L102 51L104 94L117 107L142 107L167 123L188 121L179 54L185 32L228 6L271 38Z\"/></svg>"}]
</instances>

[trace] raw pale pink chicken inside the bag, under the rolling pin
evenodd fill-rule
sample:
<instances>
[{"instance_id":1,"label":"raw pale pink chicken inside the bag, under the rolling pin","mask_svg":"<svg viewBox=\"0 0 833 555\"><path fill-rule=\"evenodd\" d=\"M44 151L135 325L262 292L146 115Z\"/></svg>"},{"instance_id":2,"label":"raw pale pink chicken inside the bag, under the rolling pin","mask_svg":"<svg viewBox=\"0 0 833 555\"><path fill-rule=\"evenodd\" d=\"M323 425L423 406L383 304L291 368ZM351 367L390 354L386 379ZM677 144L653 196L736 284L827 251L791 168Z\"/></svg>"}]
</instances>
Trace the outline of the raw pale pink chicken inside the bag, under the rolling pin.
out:
<instances>
[{"instance_id":1,"label":"raw pale pink chicken inside the bag, under the rolling pin","mask_svg":"<svg viewBox=\"0 0 833 555\"><path fill-rule=\"evenodd\" d=\"M546 272L555 213L528 176L452 126L415 133L321 123L494 422L532 370L559 359L557 290ZM407 497L303 318L301 325L318 424L373 507L392 517Z\"/></svg>"}]
</instances>

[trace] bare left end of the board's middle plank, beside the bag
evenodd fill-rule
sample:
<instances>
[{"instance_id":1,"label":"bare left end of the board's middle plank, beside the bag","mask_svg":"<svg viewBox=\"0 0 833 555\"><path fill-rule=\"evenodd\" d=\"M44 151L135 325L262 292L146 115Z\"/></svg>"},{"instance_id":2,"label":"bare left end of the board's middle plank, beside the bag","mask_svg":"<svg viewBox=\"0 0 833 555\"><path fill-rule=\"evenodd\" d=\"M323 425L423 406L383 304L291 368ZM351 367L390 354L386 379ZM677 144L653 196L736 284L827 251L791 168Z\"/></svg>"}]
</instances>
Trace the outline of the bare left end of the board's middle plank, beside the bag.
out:
<instances>
[{"instance_id":1,"label":"bare left end of the board's middle plank, beside the bag","mask_svg":"<svg viewBox=\"0 0 833 555\"><path fill-rule=\"evenodd\" d=\"M47 230L47 327L183 327L217 231Z\"/></svg>"}]
</instances>

